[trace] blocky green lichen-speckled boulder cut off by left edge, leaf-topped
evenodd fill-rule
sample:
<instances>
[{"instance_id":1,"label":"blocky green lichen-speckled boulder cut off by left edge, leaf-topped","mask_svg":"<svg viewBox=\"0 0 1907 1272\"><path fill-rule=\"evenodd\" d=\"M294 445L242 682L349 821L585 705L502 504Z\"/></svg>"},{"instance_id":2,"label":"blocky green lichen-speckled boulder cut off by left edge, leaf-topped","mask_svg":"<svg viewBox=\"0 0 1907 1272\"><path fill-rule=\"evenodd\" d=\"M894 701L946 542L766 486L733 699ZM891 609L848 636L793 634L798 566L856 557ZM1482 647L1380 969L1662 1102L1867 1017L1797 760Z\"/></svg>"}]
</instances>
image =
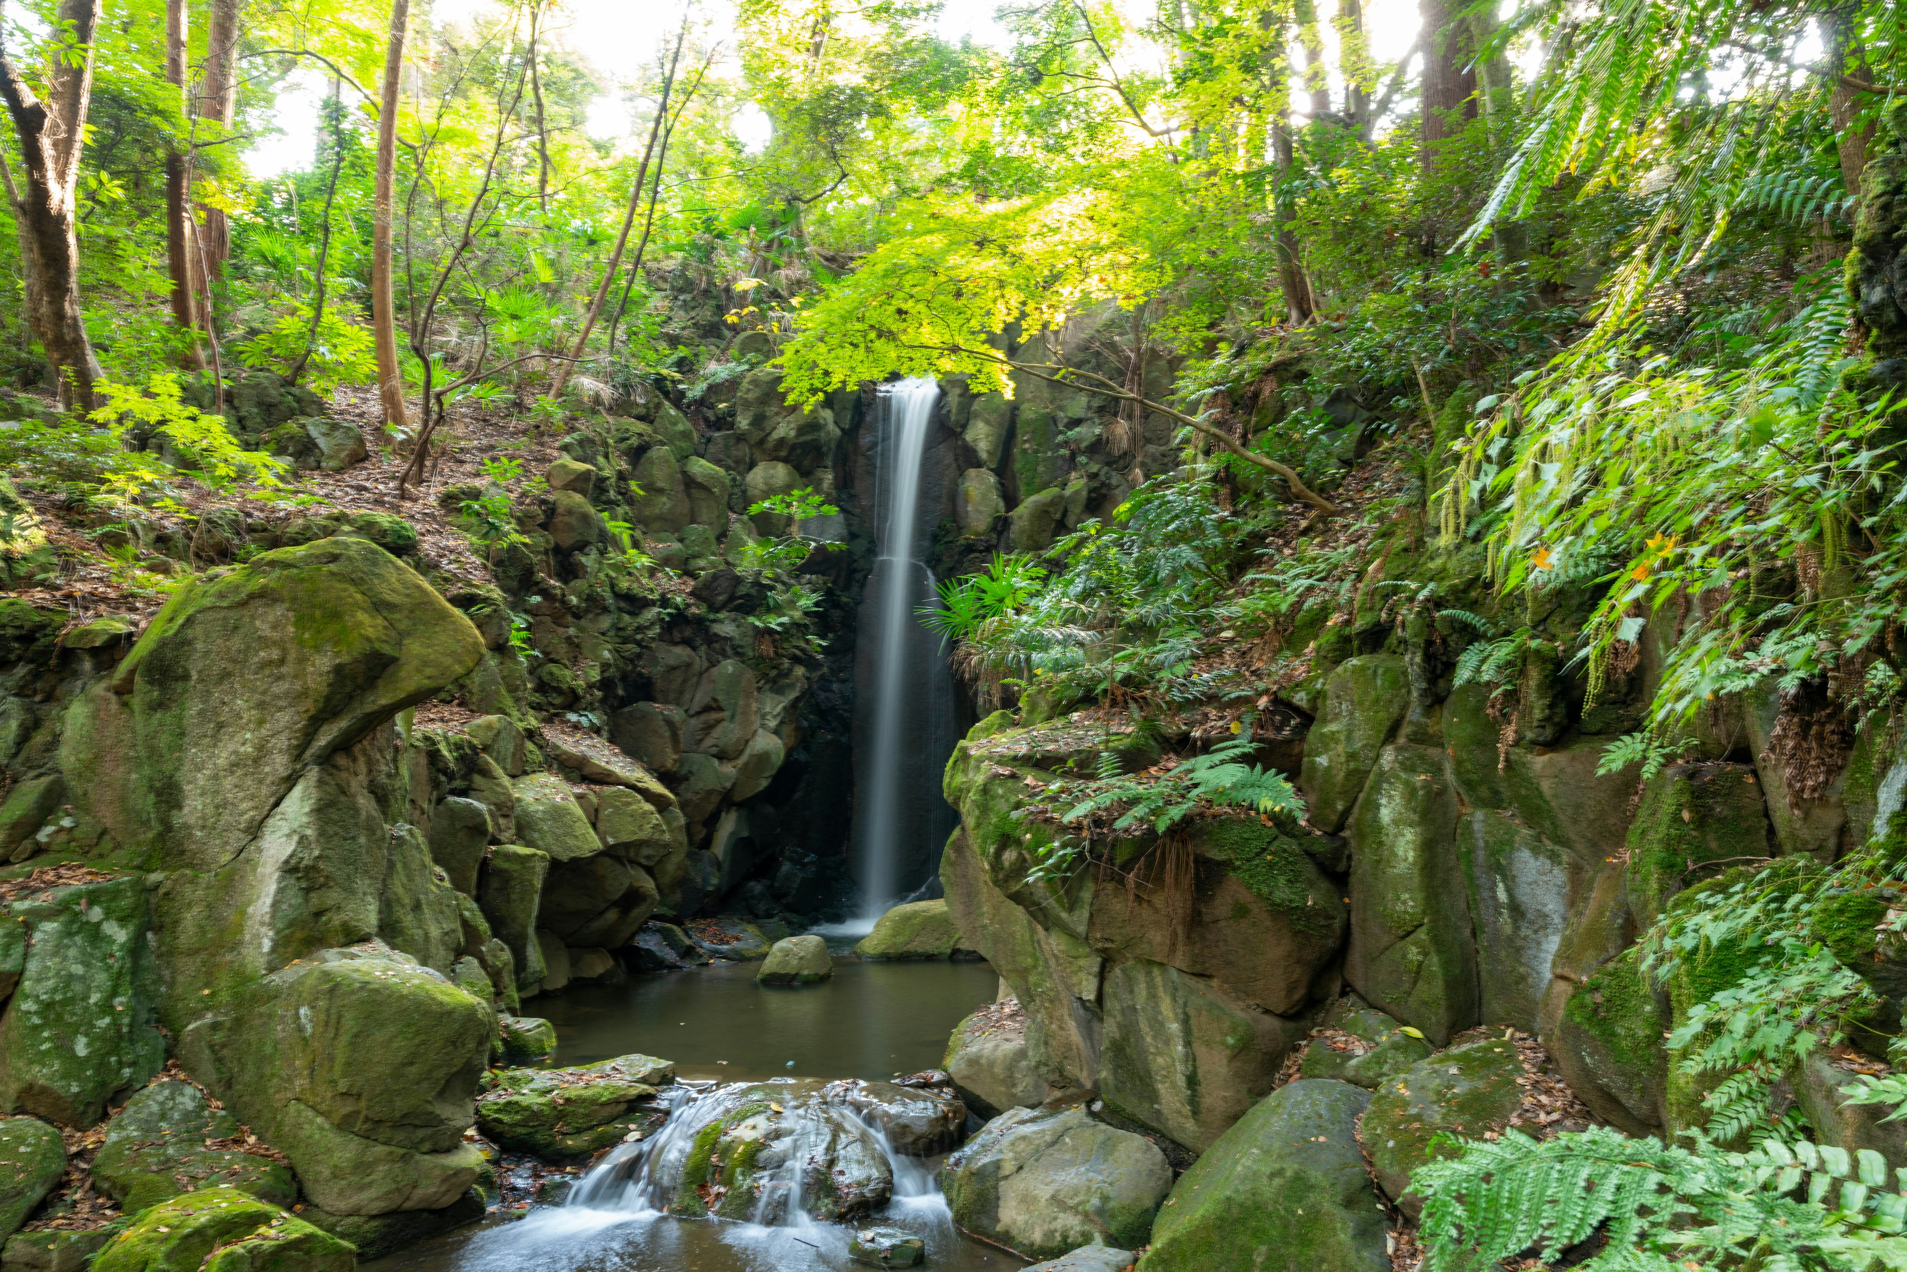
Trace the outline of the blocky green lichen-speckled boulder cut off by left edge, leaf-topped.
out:
<instances>
[{"instance_id":1,"label":"blocky green lichen-speckled boulder cut off by left edge, leaf-topped","mask_svg":"<svg viewBox=\"0 0 1907 1272\"><path fill-rule=\"evenodd\" d=\"M145 883L105 879L0 908L25 936L0 1015L0 1112L92 1127L166 1062Z\"/></svg>"}]
</instances>

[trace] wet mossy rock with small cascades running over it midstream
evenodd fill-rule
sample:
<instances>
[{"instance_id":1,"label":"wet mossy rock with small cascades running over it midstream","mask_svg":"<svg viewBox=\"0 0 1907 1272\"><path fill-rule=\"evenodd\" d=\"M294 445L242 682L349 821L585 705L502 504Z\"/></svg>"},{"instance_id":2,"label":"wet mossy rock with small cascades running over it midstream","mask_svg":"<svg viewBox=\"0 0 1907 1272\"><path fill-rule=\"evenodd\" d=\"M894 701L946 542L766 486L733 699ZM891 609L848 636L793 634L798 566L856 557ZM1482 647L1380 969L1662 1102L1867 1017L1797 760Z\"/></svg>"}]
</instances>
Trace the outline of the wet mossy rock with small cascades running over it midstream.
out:
<instances>
[{"instance_id":1,"label":"wet mossy rock with small cascades running over it midstream","mask_svg":"<svg viewBox=\"0 0 1907 1272\"><path fill-rule=\"evenodd\" d=\"M696 1137L660 1180L675 1215L786 1222L793 1196L824 1222L852 1221L887 1203L887 1154L847 1108L820 1098L816 1081L723 1087L687 1116ZM677 1114L679 1118L685 1114Z\"/></svg>"}]
</instances>

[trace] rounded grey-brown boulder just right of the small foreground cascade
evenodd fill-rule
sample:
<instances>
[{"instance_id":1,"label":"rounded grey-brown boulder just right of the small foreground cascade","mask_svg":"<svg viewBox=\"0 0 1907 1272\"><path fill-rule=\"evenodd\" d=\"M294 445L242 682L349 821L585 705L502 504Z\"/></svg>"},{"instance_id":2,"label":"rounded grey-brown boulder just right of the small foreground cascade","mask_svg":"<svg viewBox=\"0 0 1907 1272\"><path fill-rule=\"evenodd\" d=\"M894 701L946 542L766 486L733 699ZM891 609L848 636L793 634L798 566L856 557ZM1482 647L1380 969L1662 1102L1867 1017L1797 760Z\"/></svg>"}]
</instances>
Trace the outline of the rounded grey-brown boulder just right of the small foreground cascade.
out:
<instances>
[{"instance_id":1,"label":"rounded grey-brown boulder just right of the small foreground cascade","mask_svg":"<svg viewBox=\"0 0 1907 1272\"><path fill-rule=\"evenodd\" d=\"M1144 1245L1171 1186L1165 1154L1083 1108L1009 1110L942 1171L954 1222L1022 1259Z\"/></svg>"}]
</instances>

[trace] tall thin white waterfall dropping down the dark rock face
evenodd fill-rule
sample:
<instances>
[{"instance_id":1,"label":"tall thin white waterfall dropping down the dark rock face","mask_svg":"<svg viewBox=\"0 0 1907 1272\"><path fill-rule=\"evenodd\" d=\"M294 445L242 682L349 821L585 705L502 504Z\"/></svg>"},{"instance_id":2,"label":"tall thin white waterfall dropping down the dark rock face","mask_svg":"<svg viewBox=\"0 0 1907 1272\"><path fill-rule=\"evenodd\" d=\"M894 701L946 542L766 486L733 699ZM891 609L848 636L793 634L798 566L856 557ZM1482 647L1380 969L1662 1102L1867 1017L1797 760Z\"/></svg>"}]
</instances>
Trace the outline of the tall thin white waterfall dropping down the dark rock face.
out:
<instances>
[{"instance_id":1,"label":"tall thin white waterfall dropping down the dark rock face","mask_svg":"<svg viewBox=\"0 0 1907 1272\"><path fill-rule=\"evenodd\" d=\"M860 612L864 671L854 711L864 927L933 875L957 820L940 797L940 772L959 742L954 677L942 639L917 614L934 603L934 578L921 559L921 469L938 402L933 380L902 380L881 393L877 557Z\"/></svg>"}]
</instances>

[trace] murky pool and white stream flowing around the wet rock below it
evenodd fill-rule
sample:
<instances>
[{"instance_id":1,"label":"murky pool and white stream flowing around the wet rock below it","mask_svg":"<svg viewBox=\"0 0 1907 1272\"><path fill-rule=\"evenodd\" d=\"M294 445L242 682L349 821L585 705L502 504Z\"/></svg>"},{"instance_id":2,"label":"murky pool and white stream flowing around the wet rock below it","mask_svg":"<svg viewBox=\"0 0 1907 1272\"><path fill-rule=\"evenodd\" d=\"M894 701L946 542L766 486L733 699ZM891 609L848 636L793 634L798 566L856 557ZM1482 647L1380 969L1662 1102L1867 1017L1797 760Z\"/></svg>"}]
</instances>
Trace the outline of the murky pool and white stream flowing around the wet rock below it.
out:
<instances>
[{"instance_id":1,"label":"murky pool and white stream flowing around the wet rock below it","mask_svg":"<svg viewBox=\"0 0 1907 1272\"><path fill-rule=\"evenodd\" d=\"M555 1066L645 1053L677 1064L685 1087L669 1125L646 1144L606 1154L568 1203L524 1219L490 1221L437 1241L366 1262L366 1272L845 1272L858 1226L906 1228L927 1241L925 1268L999 1272L1022 1266L999 1249L963 1238L934 1182L940 1159L887 1152L894 1198L856 1226L793 1213L786 1226L660 1213L645 1190L650 1159L683 1152L696 1104L721 1087L788 1077L889 1079L936 1068L963 1016L990 1001L997 976L986 963L862 963L839 959L831 980L770 990L757 963L717 963L687 973L633 976L622 986L584 986L538 999L555 1022Z\"/></svg>"}]
</instances>

